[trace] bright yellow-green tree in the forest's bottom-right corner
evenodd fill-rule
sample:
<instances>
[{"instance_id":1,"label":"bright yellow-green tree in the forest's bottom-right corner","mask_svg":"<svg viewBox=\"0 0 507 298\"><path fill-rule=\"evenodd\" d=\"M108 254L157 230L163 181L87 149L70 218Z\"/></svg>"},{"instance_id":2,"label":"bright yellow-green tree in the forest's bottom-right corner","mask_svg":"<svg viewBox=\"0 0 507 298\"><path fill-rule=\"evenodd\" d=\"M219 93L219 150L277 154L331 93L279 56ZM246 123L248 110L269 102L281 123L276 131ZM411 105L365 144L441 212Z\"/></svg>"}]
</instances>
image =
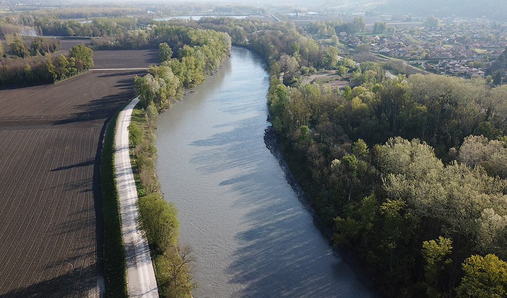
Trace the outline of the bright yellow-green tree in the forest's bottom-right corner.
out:
<instances>
[{"instance_id":1,"label":"bright yellow-green tree in the forest's bottom-right corner","mask_svg":"<svg viewBox=\"0 0 507 298\"><path fill-rule=\"evenodd\" d=\"M473 255L463 263L459 297L500 298L507 294L507 263L494 254Z\"/></svg>"}]
</instances>

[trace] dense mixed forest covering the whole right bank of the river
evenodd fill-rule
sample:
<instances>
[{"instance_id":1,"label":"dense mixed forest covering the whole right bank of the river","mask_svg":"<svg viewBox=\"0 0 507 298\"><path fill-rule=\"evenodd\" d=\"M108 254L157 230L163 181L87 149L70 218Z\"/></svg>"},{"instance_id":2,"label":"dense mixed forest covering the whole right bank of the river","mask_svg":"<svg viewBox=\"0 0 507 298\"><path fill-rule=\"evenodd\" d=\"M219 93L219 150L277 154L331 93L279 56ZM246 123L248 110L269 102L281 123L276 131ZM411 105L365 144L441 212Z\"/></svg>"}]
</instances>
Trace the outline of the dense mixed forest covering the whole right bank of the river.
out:
<instances>
[{"instance_id":1,"label":"dense mixed forest covering the whole right bank of the river","mask_svg":"<svg viewBox=\"0 0 507 298\"><path fill-rule=\"evenodd\" d=\"M333 242L355 252L384 296L506 294L505 86L389 79L389 65L334 61L337 49L291 23L197 23L266 59L285 159ZM355 87L299 83L310 68L340 67Z\"/></svg>"}]
</instances>

